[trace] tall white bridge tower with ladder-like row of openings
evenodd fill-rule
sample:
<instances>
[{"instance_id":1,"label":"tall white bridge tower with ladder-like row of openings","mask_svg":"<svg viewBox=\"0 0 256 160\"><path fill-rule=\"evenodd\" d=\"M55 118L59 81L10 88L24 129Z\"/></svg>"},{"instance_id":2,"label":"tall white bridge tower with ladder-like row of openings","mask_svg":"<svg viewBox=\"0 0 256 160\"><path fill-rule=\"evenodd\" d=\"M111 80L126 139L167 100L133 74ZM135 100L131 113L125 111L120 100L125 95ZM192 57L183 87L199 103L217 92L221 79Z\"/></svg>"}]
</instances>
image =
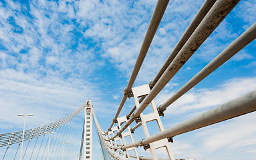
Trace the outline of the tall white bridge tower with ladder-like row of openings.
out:
<instances>
[{"instance_id":1,"label":"tall white bridge tower with ladder-like row of openings","mask_svg":"<svg viewBox=\"0 0 256 160\"><path fill-rule=\"evenodd\" d=\"M86 101L84 115L84 160L92 160L92 103Z\"/></svg>"}]
</instances>

